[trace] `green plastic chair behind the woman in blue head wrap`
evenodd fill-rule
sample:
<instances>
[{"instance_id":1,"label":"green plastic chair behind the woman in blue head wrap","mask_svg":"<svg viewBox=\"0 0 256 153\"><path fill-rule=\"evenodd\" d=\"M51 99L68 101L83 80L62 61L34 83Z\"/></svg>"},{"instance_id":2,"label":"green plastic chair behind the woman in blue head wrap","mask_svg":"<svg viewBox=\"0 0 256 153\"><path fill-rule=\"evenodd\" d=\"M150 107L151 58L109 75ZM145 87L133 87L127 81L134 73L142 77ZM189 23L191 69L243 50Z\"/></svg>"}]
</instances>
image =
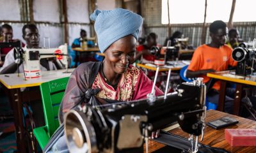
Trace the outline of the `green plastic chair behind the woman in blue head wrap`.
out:
<instances>
[{"instance_id":1,"label":"green plastic chair behind the woman in blue head wrap","mask_svg":"<svg viewBox=\"0 0 256 153\"><path fill-rule=\"evenodd\" d=\"M33 133L41 149L44 149L52 134L60 126L58 111L63 94L67 87L68 78L60 78L40 85L44 108L45 126L35 128Z\"/></svg>"}]
</instances>

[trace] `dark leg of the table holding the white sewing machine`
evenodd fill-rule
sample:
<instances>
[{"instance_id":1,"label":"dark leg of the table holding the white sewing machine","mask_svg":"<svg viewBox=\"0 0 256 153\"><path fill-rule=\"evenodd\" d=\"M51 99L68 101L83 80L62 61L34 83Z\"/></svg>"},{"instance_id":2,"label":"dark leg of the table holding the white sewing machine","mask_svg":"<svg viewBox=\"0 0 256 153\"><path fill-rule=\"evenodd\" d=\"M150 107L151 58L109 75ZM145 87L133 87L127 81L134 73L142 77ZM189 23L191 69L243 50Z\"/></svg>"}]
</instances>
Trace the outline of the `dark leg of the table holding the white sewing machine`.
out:
<instances>
[{"instance_id":1,"label":"dark leg of the table holding the white sewing machine","mask_svg":"<svg viewBox=\"0 0 256 153\"><path fill-rule=\"evenodd\" d=\"M23 112L20 89L10 89L9 97L14 115L17 150L18 152L26 152L26 140L23 125Z\"/></svg>"}]
</instances>

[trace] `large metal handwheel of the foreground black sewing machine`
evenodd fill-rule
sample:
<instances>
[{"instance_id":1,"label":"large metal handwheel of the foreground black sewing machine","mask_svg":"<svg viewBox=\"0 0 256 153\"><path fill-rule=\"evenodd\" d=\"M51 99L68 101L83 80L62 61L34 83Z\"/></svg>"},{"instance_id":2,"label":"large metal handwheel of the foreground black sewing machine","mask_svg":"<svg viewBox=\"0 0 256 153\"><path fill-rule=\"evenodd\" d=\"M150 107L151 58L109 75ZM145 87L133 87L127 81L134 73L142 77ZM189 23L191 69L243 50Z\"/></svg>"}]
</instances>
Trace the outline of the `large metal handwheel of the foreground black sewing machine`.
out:
<instances>
[{"instance_id":1,"label":"large metal handwheel of the foreground black sewing machine","mask_svg":"<svg viewBox=\"0 0 256 153\"><path fill-rule=\"evenodd\" d=\"M70 152L99 152L94 128L86 118L83 112L76 110L71 110L65 117L65 135Z\"/></svg>"}]
</instances>

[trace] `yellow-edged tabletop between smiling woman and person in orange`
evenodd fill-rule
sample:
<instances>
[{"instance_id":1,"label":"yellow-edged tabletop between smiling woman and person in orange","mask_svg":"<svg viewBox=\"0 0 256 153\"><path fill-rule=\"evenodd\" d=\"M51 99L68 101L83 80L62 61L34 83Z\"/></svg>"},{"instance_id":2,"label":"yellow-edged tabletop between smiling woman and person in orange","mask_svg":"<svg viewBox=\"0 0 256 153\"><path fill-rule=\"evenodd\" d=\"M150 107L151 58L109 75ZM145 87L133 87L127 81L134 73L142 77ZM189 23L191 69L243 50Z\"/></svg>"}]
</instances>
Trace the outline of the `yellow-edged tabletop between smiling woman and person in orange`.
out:
<instances>
[{"instance_id":1,"label":"yellow-edged tabletop between smiling woman and person in orange","mask_svg":"<svg viewBox=\"0 0 256 153\"><path fill-rule=\"evenodd\" d=\"M159 71L168 71L169 69L172 69L172 71L177 71L177 70L180 70L181 68L183 68L183 66L186 66L186 64L188 64L187 62L189 62L189 61L170 61L170 62L173 62L176 64L159 66ZM141 68L146 68L146 69L150 69L153 71L156 71L156 69L157 69L157 66L155 64L137 63L136 65Z\"/></svg>"}]
</instances>

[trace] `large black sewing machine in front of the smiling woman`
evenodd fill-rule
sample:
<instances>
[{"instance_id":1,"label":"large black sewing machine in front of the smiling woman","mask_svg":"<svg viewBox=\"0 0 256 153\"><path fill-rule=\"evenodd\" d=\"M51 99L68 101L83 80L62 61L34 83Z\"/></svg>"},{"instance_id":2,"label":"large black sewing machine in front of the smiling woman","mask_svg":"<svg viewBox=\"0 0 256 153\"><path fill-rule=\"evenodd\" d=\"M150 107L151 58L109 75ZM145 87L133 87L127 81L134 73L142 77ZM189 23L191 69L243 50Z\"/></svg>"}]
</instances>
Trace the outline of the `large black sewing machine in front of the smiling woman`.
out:
<instances>
[{"instance_id":1,"label":"large black sewing machine in front of the smiling woman","mask_svg":"<svg viewBox=\"0 0 256 153\"><path fill-rule=\"evenodd\" d=\"M147 150L152 131L178 121L183 131L193 135L195 148L190 151L197 152L198 136L204 135L205 91L198 79L180 84L177 91L164 96L152 92L137 101L78 106L64 119L68 149L75 153L142 152L144 142Z\"/></svg>"}]
</instances>

